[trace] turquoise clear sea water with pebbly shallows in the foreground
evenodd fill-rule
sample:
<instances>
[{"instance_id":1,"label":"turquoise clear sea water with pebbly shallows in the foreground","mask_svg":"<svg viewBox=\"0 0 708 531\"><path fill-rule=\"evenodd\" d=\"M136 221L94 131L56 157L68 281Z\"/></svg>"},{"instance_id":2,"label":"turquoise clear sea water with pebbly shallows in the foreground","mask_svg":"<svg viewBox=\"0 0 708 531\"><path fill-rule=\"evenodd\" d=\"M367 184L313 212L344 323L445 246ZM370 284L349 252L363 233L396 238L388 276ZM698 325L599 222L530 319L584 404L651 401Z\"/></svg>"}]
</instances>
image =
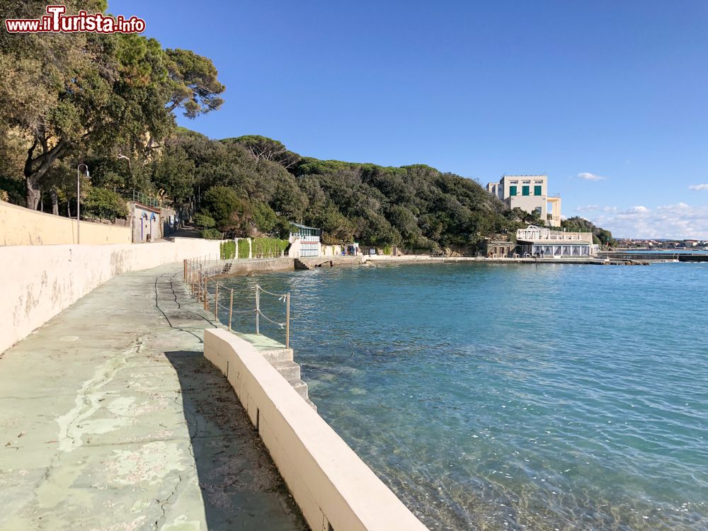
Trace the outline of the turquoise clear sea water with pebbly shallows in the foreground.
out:
<instances>
[{"instance_id":1,"label":"turquoise clear sea water with pebbly shallows in the foreground","mask_svg":"<svg viewBox=\"0 0 708 531\"><path fill-rule=\"evenodd\" d=\"M428 527L708 529L708 263L230 282L292 291L319 413Z\"/></svg>"}]
</instances>

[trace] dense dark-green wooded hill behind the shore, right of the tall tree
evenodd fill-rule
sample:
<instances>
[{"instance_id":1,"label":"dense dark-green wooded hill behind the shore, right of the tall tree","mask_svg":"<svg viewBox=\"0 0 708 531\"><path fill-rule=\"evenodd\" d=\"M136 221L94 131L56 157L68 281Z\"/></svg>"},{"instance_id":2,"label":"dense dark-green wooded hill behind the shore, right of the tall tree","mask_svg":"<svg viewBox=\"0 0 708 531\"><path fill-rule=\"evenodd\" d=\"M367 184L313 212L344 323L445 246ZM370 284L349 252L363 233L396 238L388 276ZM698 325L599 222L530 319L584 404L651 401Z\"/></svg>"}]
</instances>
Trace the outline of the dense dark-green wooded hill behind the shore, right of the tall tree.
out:
<instances>
[{"instance_id":1,"label":"dense dark-green wooded hill behind the shore, right of the tall tree","mask_svg":"<svg viewBox=\"0 0 708 531\"><path fill-rule=\"evenodd\" d=\"M506 212L475 181L422 164L393 168L321 161L253 135L217 142L181 130L168 144L166 157L190 161L181 181L216 189L232 205L227 209L232 215L219 215L216 225L236 236L282 234L292 221L321 228L326 243L435 251L472 246L486 234L525 221L518 212ZM183 182L157 184L178 199L190 189ZM203 210L209 214L215 207Z\"/></svg>"}]
</instances>

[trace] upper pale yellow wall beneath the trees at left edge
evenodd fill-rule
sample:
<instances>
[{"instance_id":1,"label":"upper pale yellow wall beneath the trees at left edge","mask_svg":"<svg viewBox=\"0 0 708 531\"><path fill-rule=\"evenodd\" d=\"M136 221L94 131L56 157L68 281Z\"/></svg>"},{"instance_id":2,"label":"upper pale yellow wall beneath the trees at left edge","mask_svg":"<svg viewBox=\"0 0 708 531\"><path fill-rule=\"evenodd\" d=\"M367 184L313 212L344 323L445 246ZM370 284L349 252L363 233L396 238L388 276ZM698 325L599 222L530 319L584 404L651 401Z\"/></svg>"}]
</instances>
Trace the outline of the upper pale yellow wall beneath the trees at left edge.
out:
<instances>
[{"instance_id":1,"label":"upper pale yellow wall beneath the trees at left edge","mask_svg":"<svg viewBox=\"0 0 708 531\"><path fill-rule=\"evenodd\" d=\"M130 244L130 227L81 222L81 244ZM29 210L0 201L0 245L76 243L76 219Z\"/></svg>"}]
</instances>

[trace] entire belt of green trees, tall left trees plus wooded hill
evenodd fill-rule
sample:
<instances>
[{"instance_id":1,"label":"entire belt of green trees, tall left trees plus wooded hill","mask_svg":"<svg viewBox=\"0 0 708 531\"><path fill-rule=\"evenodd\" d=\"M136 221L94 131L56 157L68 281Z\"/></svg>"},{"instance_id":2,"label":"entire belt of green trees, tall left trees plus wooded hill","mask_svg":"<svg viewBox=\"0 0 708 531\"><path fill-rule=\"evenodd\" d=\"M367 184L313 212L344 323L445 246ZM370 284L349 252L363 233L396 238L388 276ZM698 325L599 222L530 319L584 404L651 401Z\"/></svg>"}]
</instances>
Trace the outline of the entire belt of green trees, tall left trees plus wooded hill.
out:
<instances>
[{"instance_id":1,"label":"entire belt of green trees, tall left trees plus wooded hill","mask_svg":"<svg viewBox=\"0 0 708 531\"><path fill-rule=\"evenodd\" d=\"M45 6L8 4L20 18ZM67 1L67 11L81 9L108 6ZM177 127L176 113L218 111L225 87L207 57L142 35L6 33L0 74L0 198L28 208L75 215L76 168L86 164L83 217L125 216L121 191L160 192L174 205L197 198L194 222L214 238L282 237L298 222L323 229L325 243L471 250L488 234L541 222L423 164L323 161L267 137L214 140Z\"/></svg>"}]
</instances>

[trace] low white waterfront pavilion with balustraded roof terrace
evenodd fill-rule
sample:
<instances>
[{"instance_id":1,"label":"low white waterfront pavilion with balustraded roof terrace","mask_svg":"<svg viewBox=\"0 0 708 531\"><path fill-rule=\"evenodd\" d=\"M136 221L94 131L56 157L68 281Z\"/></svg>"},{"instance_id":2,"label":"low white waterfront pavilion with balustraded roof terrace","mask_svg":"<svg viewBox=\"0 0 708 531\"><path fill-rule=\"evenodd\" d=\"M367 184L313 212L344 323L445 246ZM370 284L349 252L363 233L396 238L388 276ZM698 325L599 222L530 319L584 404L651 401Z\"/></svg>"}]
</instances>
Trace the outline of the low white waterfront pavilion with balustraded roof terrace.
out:
<instances>
[{"instance_id":1,"label":"low white waterfront pavilion with balustraded roof terrace","mask_svg":"<svg viewBox=\"0 0 708 531\"><path fill-rule=\"evenodd\" d=\"M522 256L542 258L595 256L599 249L593 244L592 232L554 231L535 225L516 231L516 245Z\"/></svg>"}]
</instances>

